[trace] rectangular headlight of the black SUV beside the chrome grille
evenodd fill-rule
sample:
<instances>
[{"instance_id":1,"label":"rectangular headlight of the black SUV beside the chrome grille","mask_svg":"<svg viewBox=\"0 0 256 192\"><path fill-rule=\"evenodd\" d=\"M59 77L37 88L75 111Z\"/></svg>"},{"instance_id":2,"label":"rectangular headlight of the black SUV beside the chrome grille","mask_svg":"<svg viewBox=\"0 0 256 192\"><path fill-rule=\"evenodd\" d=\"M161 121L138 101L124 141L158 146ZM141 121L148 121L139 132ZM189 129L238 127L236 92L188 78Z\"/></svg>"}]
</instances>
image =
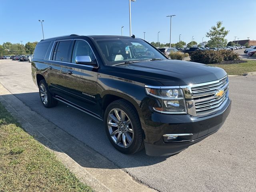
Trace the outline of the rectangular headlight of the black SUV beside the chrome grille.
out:
<instances>
[{"instance_id":1,"label":"rectangular headlight of the black SUV beside the chrome grille","mask_svg":"<svg viewBox=\"0 0 256 192\"><path fill-rule=\"evenodd\" d=\"M161 87L145 86L146 94L157 98L161 104L153 109L165 114L186 114L186 102L183 91L179 87Z\"/></svg>"}]
</instances>

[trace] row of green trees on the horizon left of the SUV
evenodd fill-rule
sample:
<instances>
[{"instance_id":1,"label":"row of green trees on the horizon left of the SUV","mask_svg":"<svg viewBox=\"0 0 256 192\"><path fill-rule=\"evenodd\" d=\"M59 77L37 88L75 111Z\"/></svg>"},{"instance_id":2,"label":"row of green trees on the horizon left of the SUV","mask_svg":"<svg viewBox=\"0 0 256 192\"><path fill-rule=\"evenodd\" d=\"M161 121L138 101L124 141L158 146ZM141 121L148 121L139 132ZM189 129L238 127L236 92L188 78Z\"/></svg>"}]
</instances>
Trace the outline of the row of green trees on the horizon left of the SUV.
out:
<instances>
[{"instance_id":1,"label":"row of green trees on the horizon left of the SUV","mask_svg":"<svg viewBox=\"0 0 256 192\"><path fill-rule=\"evenodd\" d=\"M34 53L38 42L27 42L25 45L20 43L5 42L0 45L0 56L11 55L31 55Z\"/></svg>"}]
</instances>

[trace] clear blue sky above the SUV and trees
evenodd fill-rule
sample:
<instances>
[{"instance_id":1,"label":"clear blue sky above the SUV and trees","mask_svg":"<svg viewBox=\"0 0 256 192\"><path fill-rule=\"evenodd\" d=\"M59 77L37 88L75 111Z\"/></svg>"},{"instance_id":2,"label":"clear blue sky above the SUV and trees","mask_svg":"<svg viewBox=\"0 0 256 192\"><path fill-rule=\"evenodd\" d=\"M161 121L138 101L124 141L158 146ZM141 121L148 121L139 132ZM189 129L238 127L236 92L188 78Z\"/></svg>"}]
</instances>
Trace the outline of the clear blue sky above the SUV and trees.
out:
<instances>
[{"instance_id":1,"label":"clear blue sky above the SUV and trees","mask_svg":"<svg viewBox=\"0 0 256 192\"><path fill-rule=\"evenodd\" d=\"M44 36L50 38L66 34L129 35L128 0L1 0L0 44L23 43L42 39L39 19L45 20ZM132 34L146 40L168 43L170 18L172 42L192 40L202 42L210 27L222 21L230 30L227 39L234 36L256 40L256 0L136 0L131 2Z\"/></svg>"}]
</instances>

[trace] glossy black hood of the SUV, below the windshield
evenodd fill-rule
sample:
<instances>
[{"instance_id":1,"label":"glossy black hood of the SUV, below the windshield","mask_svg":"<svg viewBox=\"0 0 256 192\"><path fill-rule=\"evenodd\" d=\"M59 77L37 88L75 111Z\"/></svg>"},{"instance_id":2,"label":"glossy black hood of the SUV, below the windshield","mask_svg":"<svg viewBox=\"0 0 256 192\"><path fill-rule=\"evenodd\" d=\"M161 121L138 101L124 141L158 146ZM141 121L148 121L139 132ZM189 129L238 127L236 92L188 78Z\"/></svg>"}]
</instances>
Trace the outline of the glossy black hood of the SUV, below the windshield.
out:
<instances>
[{"instance_id":1,"label":"glossy black hood of the SUV, below the windshield","mask_svg":"<svg viewBox=\"0 0 256 192\"><path fill-rule=\"evenodd\" d=\"M158 80L164 86L198 84L226 76L221 68L181 60L145 61L117 67L131 69L132 76Z\"/></svg>"}]
</instances>

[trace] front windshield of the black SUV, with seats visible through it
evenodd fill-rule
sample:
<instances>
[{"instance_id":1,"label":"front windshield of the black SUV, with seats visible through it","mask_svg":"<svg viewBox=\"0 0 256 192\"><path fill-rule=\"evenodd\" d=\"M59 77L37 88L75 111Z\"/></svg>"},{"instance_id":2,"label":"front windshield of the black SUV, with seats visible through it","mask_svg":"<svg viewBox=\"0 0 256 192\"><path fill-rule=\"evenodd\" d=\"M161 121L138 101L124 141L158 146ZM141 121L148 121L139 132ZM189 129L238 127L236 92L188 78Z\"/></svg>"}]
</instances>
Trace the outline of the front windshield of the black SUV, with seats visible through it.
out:
<instances>
[{"instance_id":1,"label":"front windshield of the black SUV, with seats visible through it","mask_svg":"<svg viewBox=\"0 0 256 192\"><path fill-rule=\"evenodd\" d=\"M143 40L112 39L98 40L97 44L106 65L118 65L145 60L166 60L153 46Z\"/></svg>"}]
</instances>

